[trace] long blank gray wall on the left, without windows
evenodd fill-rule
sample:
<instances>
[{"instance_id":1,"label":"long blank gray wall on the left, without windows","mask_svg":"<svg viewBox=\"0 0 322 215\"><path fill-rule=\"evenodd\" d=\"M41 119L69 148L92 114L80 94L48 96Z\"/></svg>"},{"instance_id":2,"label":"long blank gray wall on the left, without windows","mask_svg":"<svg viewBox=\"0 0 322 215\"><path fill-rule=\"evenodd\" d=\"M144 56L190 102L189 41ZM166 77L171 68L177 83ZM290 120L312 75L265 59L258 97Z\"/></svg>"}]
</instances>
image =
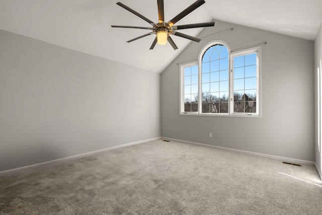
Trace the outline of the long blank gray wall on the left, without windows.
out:
<instances>
[{"instance_id":1,"label":"long blank gray wall on the left, without windows","mask_svg":"<svg viewBox=\"0 0 322 215\"><path fill-rule=\"evenodd\" d=\"M0 171L160 136L160 74L3 30L0 44Z\"/></svg>"}]
</instances>

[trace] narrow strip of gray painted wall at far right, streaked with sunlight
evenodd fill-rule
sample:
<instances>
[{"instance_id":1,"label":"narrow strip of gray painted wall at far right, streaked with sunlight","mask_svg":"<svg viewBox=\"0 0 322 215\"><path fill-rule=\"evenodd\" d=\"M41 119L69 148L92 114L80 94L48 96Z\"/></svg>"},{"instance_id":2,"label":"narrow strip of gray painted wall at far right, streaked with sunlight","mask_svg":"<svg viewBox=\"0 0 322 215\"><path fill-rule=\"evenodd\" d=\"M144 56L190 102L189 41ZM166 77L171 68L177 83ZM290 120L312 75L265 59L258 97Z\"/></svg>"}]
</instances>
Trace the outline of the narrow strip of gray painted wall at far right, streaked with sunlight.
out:
<instances>
[{"instance_id":1,"label":"narrow strip of gray painted wall at far right, streaked with sunlight","mask_svg":"<svg viewBox=\"0 0 322 215\"><path fill-rule=\"evenodd\" d=\"M322 167L321 167L321 140L318 136L321 135L321 128L322 125L321 122L318 121L318 118L320 117L318 114L318 106L321 106L321 101L318 99L318 73L321 74L322 71L322 23L321 26L317 32L316 38L314 40L314 83L315 83L315 163L317 167L317 171L319 172L320 177L322 178ZM322 77L320 77L322 78ZM320 86L322 87L322 86ZM320 102L320 104L318 104ZM320 123L320 126L318 126L318 123Z\"/></svg>"}]
</instances>

